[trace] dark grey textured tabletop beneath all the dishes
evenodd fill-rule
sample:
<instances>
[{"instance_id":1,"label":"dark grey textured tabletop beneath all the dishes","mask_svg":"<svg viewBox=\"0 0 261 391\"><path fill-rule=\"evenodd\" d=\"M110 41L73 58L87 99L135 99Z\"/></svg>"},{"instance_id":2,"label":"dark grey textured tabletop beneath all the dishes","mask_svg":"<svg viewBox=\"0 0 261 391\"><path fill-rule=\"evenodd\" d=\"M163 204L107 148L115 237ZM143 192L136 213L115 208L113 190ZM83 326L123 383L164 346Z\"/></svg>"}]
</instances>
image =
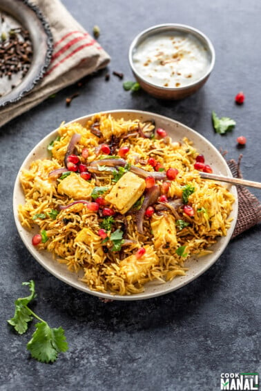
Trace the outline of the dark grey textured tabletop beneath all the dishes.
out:
<instances>
[{"instance_id":1,"label":"dark grey textured tabletop beneath all the dishes","mask_svg":"<svg viewBox=\"0 0 261 391\"><path fill-rule=\"evenodd\" d=\"M213 42L216 63L200 92L184 101L159 101L131 94L106 71L87 79L66 108L72 86L3 126L1 152L1 370L0 390L220 390L221 372L260 370L260 226L231 241L213 267L185 288L148 301L101 303L52 277L24 247L12 216L12 189L23 159L61 121L101 110L148 110L182 121L237 159L244 177L260 177L260 33L258 0L64 0L89 31L101 28L99 42L111 55L109 69L133 79L128 46L135 35L158 23L185 23ZM236 106L235 94L246 101ZM211 110L237 121L221 137L211 126ZM239 150L236 137L247 146ZM253 191L260 198L260 191ZM62 325L70 350L52 365L30 359L33 332L14 334L6 324L13 301L34 279L35 310L52 327Z\"/></svg>"}]
</instances>

